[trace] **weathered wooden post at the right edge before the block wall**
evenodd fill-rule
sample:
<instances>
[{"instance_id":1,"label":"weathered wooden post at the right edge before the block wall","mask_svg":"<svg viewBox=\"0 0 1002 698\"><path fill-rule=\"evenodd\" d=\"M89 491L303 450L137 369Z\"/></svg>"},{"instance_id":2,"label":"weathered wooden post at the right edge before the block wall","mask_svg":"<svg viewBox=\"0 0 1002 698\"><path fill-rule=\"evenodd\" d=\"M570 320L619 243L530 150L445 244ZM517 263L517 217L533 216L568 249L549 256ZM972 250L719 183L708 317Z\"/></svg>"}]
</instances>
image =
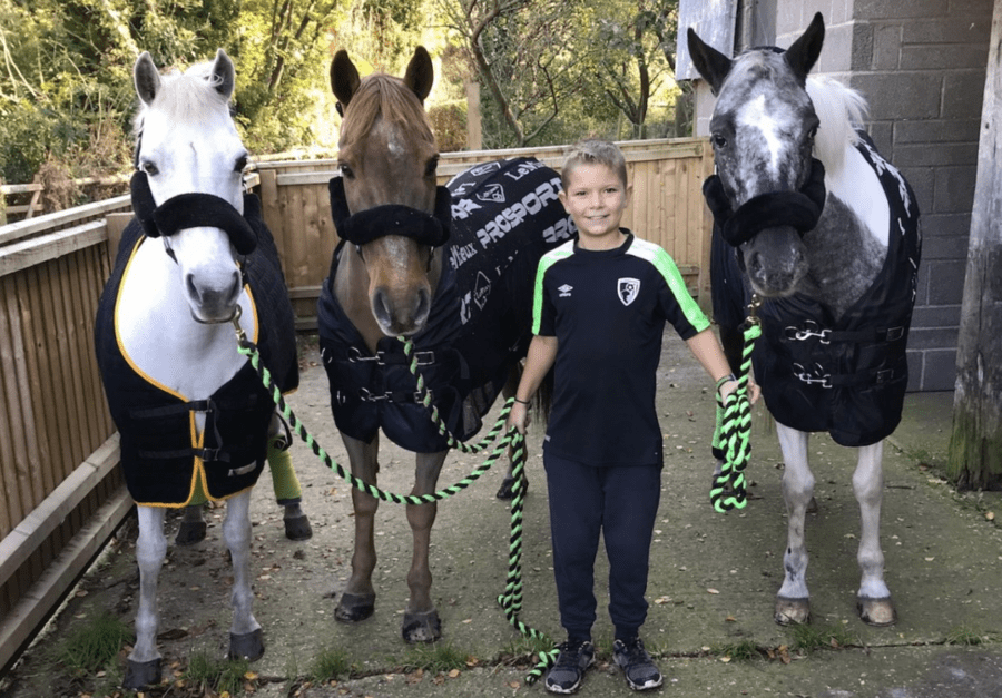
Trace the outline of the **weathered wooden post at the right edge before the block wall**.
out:
<instances>
[{"instance_id":1,"label":"weathered wooden post at the right edge before the block wall","mask_svg":"<svg viewBox=\"0 0 1002 698\"><path fill-rule=\"evenodd\" d=\"M947 474L1002 485L1002 0L995 0L978 146Z\"/></svg>"}]
</instances>

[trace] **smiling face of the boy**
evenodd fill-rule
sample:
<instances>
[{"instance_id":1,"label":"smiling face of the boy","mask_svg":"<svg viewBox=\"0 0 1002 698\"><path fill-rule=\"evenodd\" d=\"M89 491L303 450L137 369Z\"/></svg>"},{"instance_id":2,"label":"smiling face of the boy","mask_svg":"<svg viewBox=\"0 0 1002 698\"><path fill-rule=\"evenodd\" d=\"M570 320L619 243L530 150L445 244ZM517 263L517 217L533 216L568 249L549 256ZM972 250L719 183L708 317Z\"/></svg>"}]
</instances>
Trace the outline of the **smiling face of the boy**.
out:
<instances>
[{"instance_id":1,"label":"smiling face of the boy","mask_svg":"<svg viewBox=\"0 0 1002 698\"><path fill-rule=\"evenodd\" d=\"M578 226L579 240L587 246L605 238L619 240L619 223L631 194L632 187L612 168L582 163L570 171L567 188L559 196Z\"/></svg>"}]
</instances>

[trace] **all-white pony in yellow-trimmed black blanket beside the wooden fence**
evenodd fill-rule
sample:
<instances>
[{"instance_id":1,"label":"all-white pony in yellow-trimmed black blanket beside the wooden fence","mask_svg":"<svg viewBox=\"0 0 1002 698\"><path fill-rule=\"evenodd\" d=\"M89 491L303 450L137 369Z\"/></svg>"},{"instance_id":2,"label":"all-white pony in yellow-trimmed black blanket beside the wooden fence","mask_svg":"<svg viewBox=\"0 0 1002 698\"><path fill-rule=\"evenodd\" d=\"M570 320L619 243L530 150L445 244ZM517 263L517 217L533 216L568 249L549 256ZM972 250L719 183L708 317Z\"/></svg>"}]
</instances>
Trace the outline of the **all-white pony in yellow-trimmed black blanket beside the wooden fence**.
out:
<instances>
[{"instance_id":1,"label":"all-white pony in yellow-trimmed black blanket beside the wooden fence","mask_svg":"<svg viewBox=\"0 0 1002 698\"><path fill-rule=\"evenodd\" d=\"M167 551L167 508L227 500L223 534L234 570L229 657L254 660L264 653L250 608L248 504L279 424L267 392L237 352L235 325L263 350L282 346L269 367L284 376L283 390L295 387L298 372L274 243L256 198L243 191L247 150L229 110L233 62L220 49L212 62L160 76L144 52L134 78L140 99L137 218L124 234L95 335L126 482L139 511L136 643L124 679L126 688L138 689L160 681L156 588ZM262 287L256 278L267 283ZM277 327L268 324L275 317Z\"/></svg>"}]
</instances>

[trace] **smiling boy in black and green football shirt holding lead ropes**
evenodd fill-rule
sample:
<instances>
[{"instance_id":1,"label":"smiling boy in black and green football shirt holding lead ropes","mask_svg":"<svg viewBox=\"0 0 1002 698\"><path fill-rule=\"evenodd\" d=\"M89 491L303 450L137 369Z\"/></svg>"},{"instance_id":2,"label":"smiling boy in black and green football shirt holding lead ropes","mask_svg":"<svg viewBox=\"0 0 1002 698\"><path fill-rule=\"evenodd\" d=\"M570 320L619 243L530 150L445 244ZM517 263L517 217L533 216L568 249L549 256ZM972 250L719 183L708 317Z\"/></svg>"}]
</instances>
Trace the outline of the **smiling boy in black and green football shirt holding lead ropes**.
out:
<instances>
[{"instance_id":1,"label":"smiling boy in black and green football shirt holding lead ropes","mask_svg":"<svg viewBox=\"0 0 1002 698\"><path fill-rule=\"evenodd\" d=\"M661 430L656 371L670 322L724 396L737 387L709 321L675 262L619 227L630 203L626 160L615 145L584 140L568 154L560 200L576 239L539 265L533 337L509 426L525 431L525 406L554 366L553 406L543 440L553 570L567 641L547 675L571 694L595 661L595 557L609 556L613 655L635 690L661 685L644 649L648 559L660 499Z\"/></svg>"}]
</instances>

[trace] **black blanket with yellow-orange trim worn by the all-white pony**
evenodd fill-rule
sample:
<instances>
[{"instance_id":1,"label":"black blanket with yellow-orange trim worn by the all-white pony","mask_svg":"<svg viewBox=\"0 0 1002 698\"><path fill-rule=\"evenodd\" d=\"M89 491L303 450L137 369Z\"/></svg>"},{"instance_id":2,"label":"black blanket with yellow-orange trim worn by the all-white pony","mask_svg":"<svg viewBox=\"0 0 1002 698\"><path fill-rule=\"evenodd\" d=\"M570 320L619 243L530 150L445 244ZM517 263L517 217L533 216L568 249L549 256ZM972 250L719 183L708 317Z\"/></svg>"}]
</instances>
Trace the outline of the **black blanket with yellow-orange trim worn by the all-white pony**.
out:
<instances>
[{"instance_id":1,"label":"black blanket with yellow-orange trim worn by the all-white pony","mask_svg":"<svg viewBox=\"0 0 1002 698\"><path fill-rule=\"evenodd\" d=\"M257 344L279 389L293 391L299 384L299 368L292 305L256 196L245 196L244 217L257 237L256 248L243 263L257 312ZM163 391L132 368L116 340L115 305L126 266L140 244L159 245L146 238L134 218L122 234L95 323L98 366L121 434L126 484L139 504L183 507L191 499L196 478L210 499L223 499L257 481L275 406L249 361L212 397L194 402ZM206 414L200 446L193 436L193 412Z\"/></svg>"}]
</instances>

